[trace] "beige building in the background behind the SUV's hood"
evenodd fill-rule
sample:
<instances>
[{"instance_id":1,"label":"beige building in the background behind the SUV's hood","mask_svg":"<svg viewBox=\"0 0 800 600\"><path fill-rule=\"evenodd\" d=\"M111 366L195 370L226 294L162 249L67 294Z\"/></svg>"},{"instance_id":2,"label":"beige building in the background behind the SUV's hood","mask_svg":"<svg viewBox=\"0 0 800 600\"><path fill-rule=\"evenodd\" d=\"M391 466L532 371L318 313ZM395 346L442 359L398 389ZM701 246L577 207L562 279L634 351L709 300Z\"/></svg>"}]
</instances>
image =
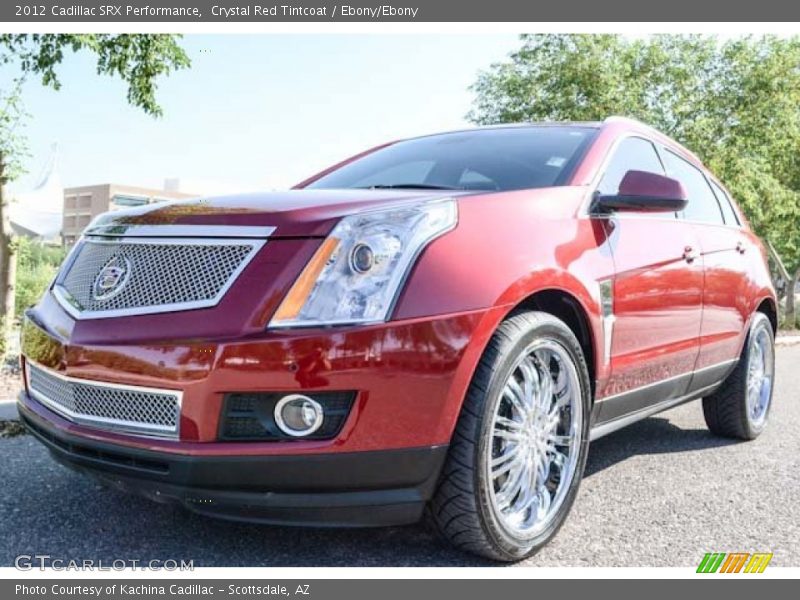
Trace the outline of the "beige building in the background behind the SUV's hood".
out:
<instances>
[{"instance_id":1,"label":"beige building in the background behind the SUV's hood","mask_svg":"<svg viewBox=\"0 0 800 600\"><path fill-rule=\"evenodd\" d=\"M86 185L64 190L64 244L75 243L91 220L109 210L141 206L165 200L196 198L197 194L178 191L141 188L116 183Z\"/></svg>"}]
</instances>

